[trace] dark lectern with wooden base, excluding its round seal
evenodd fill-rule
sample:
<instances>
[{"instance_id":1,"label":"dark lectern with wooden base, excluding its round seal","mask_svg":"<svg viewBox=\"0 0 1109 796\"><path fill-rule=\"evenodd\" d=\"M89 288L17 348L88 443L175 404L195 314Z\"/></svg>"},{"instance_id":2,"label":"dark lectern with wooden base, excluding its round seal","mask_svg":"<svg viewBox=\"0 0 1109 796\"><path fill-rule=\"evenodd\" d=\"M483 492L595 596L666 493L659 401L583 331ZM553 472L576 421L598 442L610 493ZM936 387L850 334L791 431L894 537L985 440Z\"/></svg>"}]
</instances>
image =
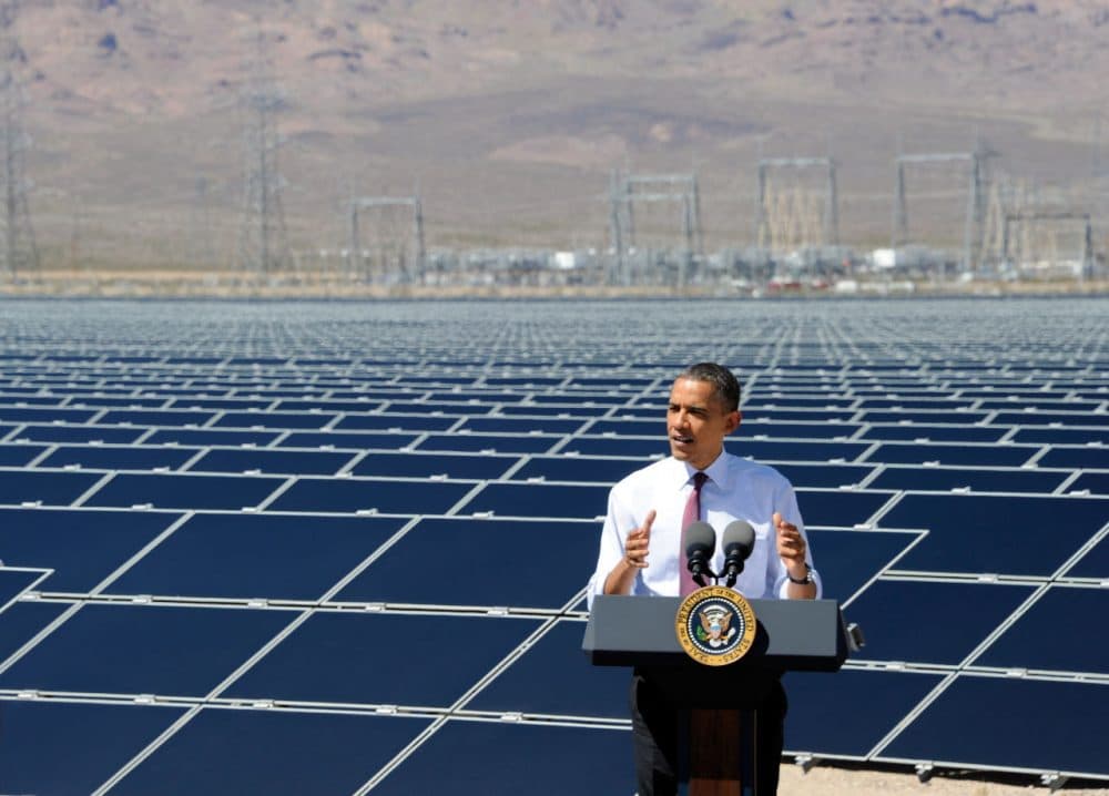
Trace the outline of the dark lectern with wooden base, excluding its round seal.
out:
<instances>
[{"instance_id":1,"label":"dark lectern with wooden base, excluding its round seal","mask_svg":"<svg viewBox=\"0 0 1109 796\"><path fill-rule=\"evenodd\" d=\"M679 708L679 793L756 796L760 765L779 765L781 749L759 749L759 704L787 671L835 672L847 635L834 600L750 600L756 630L751 650L726 666L698 663L674 631L681 598L600 595L582 649L594 665L649 673Z\"/></svg>"}]
</instances>

